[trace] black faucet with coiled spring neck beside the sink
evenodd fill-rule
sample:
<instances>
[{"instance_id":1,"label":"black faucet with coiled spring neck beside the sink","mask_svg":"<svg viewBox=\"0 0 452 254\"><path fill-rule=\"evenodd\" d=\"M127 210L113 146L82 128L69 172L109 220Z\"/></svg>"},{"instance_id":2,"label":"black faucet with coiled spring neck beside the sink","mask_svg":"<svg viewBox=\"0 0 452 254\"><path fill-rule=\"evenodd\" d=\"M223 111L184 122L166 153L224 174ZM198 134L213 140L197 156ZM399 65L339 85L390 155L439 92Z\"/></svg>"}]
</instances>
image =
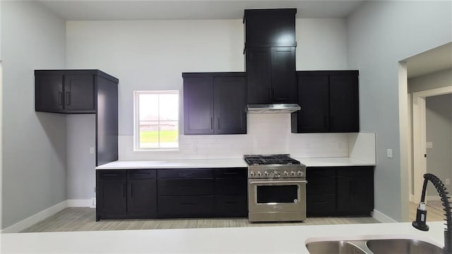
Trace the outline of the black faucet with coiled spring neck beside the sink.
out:
<instances>
[{"instance_id":1,"label":"black faucet with coiled spring neck beside the sink","mask_svg":"<svg viewBox=\"0 0 452 254\"><path fill-rule=\"evenodd\" d=\"M424 174L424 186L422 186L422 196L421 202L417 207L416 220L412 222L412 226L416 229L422 231L428 231L429 226L427 226L427 210L425 208L425 191L427 191L427 182L431 181L438 191L441 201L444 206L444 215L446 216L446 229L444 229L444 253L452 254L452 213L451 213L451 202L448 200L448 192L444 187L444 183L439 180L434 174Z\"/></svg>"}]
</instances>

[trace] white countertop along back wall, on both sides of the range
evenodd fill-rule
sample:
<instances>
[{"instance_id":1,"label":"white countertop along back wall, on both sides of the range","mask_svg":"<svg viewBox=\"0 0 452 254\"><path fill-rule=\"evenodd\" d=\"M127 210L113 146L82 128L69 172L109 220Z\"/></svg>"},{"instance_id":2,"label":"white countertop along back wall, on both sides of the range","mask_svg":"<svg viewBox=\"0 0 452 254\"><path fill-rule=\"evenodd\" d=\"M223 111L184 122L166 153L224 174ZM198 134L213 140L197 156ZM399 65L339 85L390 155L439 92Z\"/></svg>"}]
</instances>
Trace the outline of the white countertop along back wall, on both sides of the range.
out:
<instances>
[{"instance_id":1,"label":"white countertop along back wall, on both sides of the range","mask_svg":"<svg viewBox=\"0 0 452 254\"><path fill-rule=\"evenodd\" d=\"M364 162L350 157L337 158L297 158L307 167L374 166L373 162ZM235 159L165 159L143 161L117 161L103 164L96 169L183 169L183 168L222 168L248 167L243 158Z\"/></svg>"}]
</instances>

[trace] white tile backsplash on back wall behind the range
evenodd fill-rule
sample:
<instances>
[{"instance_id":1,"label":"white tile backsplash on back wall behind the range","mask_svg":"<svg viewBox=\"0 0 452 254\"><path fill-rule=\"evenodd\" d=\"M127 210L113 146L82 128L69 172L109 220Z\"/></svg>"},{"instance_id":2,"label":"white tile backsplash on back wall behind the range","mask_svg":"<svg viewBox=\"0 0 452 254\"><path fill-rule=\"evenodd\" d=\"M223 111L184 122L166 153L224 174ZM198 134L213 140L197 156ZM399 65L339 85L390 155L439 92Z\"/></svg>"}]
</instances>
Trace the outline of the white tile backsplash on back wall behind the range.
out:
<instances>
[{"instance_id":1,"label":"white tile backsplash on back wall behind the range","mask_svg":"<svg viewBox=\"0 0 452 254\"><path fill-rule=\"evenodd\" d=\"M119 136L119 159L221 159L243 155L348 157L347 133L290 133L290 114L248 114L244 135L180 135L177 151L133 151L133 135Z\"/></svg>"}]
</instances>

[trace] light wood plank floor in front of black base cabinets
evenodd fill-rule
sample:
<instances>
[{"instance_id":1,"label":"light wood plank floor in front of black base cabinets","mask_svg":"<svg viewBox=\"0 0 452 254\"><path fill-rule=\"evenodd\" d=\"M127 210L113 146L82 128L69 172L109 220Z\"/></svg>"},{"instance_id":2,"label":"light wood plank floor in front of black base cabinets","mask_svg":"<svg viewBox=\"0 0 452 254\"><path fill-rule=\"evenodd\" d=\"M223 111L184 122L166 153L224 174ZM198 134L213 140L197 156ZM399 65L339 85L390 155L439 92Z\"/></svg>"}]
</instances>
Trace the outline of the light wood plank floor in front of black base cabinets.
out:
<instances>
[{"instance_id":1,"label":"light wood plank floor in front of black base cabinets","mask_svg":"<svg viewBox=\"0 0 452 254\"><path fill-rule=\"evenodd\" d=\"M410 220L416 216L417 204L410 203ZM442 221L441 210L427 207L427 222ZM264 222L250 223L248 219L102 219L95 221L95 209L89 207L69 207L42 222L30 226L22 232L51 231L97 231L133 229L191 229L246 226L292 226L323 224L365 224L378 223L372 217L308 217L304 222Z\"/></svg>"}]
</instances>

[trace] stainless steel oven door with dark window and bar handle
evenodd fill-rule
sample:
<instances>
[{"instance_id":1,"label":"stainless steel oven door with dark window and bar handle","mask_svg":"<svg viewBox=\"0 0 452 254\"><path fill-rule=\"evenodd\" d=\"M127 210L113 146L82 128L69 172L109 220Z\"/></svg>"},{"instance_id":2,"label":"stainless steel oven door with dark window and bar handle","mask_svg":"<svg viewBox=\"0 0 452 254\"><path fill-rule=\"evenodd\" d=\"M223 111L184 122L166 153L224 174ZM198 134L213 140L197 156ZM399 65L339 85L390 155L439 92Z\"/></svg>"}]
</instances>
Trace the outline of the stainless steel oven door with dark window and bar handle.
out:
<instances>
[{"instance_id":1,"label":"stainless steel oven door with dark window and bar handle","mask_svg":"<svg viewBox=\"0 0 452 254\"><path fill-rule=\"evenodd\" d=\"M304 179L249 179L249 212L306 211Z\"/></svg>"}]
</instances>

